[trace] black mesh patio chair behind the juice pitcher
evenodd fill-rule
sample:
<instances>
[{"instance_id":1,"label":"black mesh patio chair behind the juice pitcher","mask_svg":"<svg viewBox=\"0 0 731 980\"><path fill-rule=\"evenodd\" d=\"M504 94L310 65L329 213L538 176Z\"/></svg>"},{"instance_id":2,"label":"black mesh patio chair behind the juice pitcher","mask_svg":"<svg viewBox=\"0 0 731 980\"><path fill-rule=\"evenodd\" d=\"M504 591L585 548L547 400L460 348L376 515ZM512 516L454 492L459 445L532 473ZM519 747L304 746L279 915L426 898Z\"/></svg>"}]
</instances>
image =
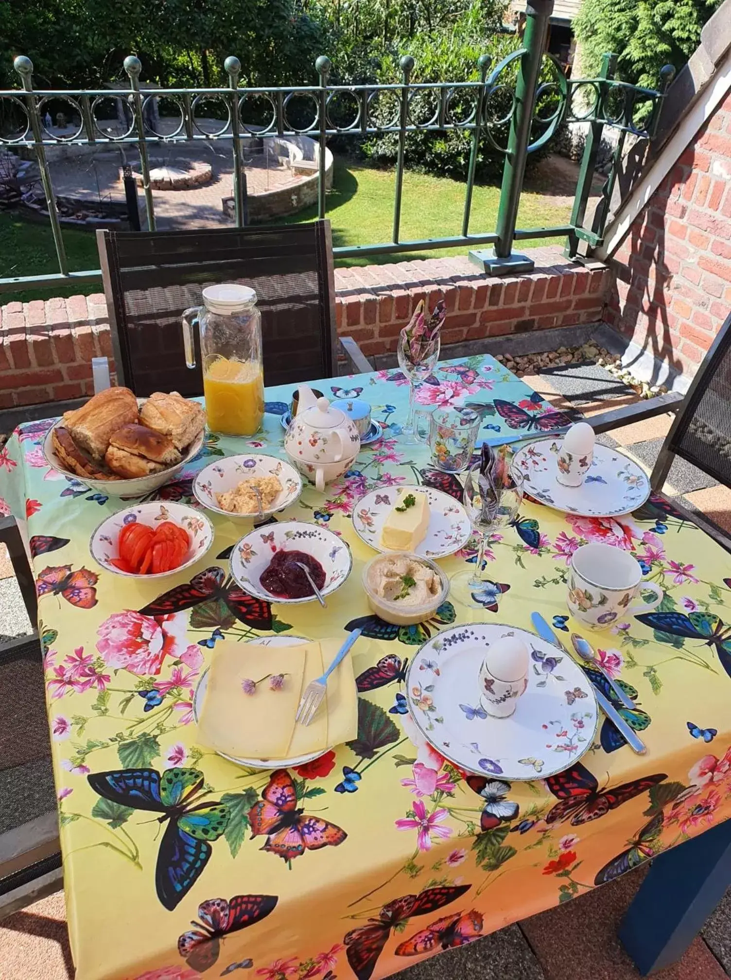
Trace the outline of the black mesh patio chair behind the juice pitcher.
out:
<instances>
[{"instance_id":1,"label":"black mesh patio chair behind the juice pitcher","mask_svg":"<svg viewBox=\"0 0 731 980\"><path fill-rule=\"evenodd\" d=\"M352 337L338 338L329 221L194 231L97 231L119 384L203 394L201 369L185 364L180 314L205 285L242 282L262 311L265 382L297 383L372 367ZM196 361L200 350L196 340Z\"/></svg>"}]
</instances>

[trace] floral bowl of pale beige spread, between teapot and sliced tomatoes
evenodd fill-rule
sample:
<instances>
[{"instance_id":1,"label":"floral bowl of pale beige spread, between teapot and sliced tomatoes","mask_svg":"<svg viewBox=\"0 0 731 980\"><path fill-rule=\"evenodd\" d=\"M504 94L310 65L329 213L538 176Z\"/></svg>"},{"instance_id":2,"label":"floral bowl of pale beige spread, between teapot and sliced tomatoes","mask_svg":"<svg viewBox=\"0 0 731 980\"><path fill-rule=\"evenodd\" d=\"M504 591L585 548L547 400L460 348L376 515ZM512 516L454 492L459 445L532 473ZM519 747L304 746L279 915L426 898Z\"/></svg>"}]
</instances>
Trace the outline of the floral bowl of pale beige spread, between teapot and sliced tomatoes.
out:
<instances>
[{"instance_id":1,"label":"floral bowl of pale beige spread, between teapot and sliced tomatoes","mask_svg":"<svg viewBox=\"0 0 731 980\"><path fill-rule=\"evenodd\" d=\"M296 503L302 477L273 456L227 456L205 466L193 480L193 496L209 511L231 520L261 519Z\"/></svg>"}]
</instances>

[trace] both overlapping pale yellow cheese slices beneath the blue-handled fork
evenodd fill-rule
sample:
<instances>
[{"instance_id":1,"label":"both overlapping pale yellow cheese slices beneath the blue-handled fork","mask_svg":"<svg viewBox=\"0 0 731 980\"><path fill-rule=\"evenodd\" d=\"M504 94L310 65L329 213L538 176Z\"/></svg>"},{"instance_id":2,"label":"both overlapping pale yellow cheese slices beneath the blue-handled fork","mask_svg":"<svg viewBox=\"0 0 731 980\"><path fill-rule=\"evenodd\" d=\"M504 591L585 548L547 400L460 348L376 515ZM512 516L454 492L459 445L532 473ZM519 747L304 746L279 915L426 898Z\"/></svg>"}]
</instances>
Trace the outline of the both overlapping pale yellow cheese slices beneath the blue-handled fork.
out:
<instances>
[{"instance_id":1,"label":"both overlapping pale yellow cheese slices beneath the blue-handled fork","mask_svg":"<svg viewBox=\"0 0 731 980\"><path fill-rule=\"evenodd\" d=\"M295 724L300 698L311 680L323 672L340 649L342 639L295 647L218 643L208 688L198 719L198 740L238 759L278 760L321 752L354 739L358 733L358 692L350 656L330 675L323 707L311 724ZM242 689L245 679L285 674L281 690L268 680L254 694Z\"/></svg>"}]
</instances>

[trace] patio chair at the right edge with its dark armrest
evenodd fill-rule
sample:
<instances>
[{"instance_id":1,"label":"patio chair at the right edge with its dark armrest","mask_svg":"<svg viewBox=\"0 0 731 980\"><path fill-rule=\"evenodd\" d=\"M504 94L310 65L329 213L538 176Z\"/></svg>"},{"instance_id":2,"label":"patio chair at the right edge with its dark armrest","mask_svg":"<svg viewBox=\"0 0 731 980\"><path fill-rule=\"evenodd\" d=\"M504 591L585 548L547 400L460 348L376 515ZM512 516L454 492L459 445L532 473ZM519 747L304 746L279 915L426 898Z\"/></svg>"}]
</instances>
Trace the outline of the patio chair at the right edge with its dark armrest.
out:
<instances>
[{"instance_id":1,"label":"patio chair at the right edge with its dark armrest","mask_svg":"<svg viewBox=\"0 0 731 980\"><path fill-rule=\"evenodd\" d=\"M596 433L611 432L668 411L675 412L675 418L650 477L653 490L662 489L676 456L731 487L731 314L724 320L685 397L670 392L591 417L589 421ZM707 534L731 550L731 538L727 534L695 512L686 513Z\"/></svg>"}]
</instances>

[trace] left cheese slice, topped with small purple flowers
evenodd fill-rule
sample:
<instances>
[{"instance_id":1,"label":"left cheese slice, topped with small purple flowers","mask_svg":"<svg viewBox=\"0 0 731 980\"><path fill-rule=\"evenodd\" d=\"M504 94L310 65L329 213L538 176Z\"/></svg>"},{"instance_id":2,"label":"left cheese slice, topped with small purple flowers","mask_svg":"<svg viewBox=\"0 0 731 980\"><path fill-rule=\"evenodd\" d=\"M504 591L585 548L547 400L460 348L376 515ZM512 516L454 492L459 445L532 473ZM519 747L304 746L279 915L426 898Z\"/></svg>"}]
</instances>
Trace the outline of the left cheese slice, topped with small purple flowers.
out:
<instances>
[{"instance_id":1,"label":"left cheese slice, topped with small purple flowers","mask_svg":"<svg viewBox=\"0 0 731 980\"><path fill-rule=\"evenodd\" d=\"M320 657L318 643L266 647L219 642L198 719L198 741L237 759L286 758L305 664L313 649ZM264 680L254 694L244 694L245 678L259 681L269 673L286 675L280 691L272 691Z\"/></svg>"}]
</instances>

